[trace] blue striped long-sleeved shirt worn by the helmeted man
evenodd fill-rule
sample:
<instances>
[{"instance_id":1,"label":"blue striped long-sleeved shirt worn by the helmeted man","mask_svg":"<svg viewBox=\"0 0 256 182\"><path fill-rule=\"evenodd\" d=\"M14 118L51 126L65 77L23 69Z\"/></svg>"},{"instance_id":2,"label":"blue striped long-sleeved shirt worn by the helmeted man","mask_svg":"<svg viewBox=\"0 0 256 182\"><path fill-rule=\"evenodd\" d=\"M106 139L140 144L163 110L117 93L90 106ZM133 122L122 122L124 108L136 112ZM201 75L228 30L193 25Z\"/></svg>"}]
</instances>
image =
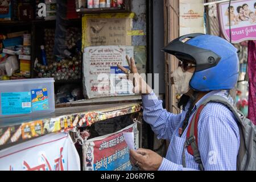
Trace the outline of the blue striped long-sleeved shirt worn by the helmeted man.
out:
<instances>
[{"instance_id":1,"label":"blue striped long-sleeved shirt worn by the helmeted man","mask_svg":"<svg viewBox=\"0 0 256 182\"><path fill-rule=\"evenodd\" d=\"M226 90L212 91L199 100L192 110L189 123L201 101L213 94L228 99L232 104L232 97ZM182 166L183 145L186 139L187 129L179 137L179 128L183 125L185 114L189 104L181 114L169 113L163 109L162 101L158 100L154 92L148 96L142 96L143 118L150 124L158 139L170 141L166 158L163 158L159 171L194 171L199 170L198 164L192 155L185 150L186 168ZM198 145L206 171L235 171L237 168L237 155L240 146L240 135L236 119L233 113L224 105L209 103L201 111L199 117Z\"/></svg>"}]
</instances>

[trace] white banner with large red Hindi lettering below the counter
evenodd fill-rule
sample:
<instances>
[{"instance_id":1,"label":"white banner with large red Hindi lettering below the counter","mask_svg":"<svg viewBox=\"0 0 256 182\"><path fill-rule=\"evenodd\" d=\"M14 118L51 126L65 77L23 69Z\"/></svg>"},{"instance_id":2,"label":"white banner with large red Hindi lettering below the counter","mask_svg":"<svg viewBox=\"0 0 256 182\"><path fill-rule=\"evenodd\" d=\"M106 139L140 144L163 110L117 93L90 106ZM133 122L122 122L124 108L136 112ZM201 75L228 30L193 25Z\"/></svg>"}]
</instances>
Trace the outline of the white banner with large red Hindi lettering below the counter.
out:
<instances>
[{"instance_id":1,"label":"white banner with large red Hindi lettering below the counter","mask_svg":"<svg viewBox=\"0 0 256 182\"><path fill-rule=\"evenodd\" d=\"M49 134L0 151L1 171L80 171L68 133Z\"/></svg>"}]
</instances>

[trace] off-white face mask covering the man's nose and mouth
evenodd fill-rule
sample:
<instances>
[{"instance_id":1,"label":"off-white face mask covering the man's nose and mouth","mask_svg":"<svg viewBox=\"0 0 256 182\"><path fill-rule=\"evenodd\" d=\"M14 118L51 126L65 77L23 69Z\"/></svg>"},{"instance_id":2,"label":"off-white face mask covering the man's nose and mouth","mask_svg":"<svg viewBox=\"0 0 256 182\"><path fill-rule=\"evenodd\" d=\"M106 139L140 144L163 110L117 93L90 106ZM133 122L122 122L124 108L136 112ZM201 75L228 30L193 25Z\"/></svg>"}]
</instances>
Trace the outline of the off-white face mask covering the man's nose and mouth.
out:
<instances>
[{"instance_id":1,"label":"off-white face mask covering the man's nose and mouth","mask_svg":"<svg viewBox=\"0 0 256 182\"><path fill-rule=\"evenodd\" d=\"M185 94L189 91L189 82L193 76L191 72L183 72L181 67L178 67L171 77L174 78L176 94Z\"/></svg>"}]
</instances>

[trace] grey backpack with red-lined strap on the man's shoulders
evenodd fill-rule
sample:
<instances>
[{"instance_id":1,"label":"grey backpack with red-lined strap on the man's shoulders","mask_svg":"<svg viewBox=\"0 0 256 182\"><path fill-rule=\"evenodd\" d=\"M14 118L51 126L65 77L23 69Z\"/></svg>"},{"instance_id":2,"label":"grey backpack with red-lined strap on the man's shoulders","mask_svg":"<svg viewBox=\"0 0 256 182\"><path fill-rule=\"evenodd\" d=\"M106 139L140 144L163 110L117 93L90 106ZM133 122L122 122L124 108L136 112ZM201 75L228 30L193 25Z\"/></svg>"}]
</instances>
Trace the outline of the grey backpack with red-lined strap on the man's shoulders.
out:
<instances>
[{"instance_id":1,"label":"grey backpack with red-lined strap on the man's shoulders","mask_svg":"<svg viewBox=\"0 0 256 182\"><path fill-rule=\"evenodd\" d=\"M256 127L255 125L243 115L239 110L236 110L226 98L221 96L210 96L206 98L200 107L197 108L193 115L192 121L189 124L187 131L187 139L183 147L183 167L185 163L185 149L188 153L193 155L196 163L199 164L201 171L204 171L204 166L201 161L200 152L197 145L197 125L199 115L204 107L209 102L217 102L228 107L237 119L238 128L240 130L240 148L237 156L237 171L256 171Z\"/></svg>"}]
</instances>

